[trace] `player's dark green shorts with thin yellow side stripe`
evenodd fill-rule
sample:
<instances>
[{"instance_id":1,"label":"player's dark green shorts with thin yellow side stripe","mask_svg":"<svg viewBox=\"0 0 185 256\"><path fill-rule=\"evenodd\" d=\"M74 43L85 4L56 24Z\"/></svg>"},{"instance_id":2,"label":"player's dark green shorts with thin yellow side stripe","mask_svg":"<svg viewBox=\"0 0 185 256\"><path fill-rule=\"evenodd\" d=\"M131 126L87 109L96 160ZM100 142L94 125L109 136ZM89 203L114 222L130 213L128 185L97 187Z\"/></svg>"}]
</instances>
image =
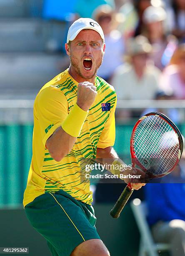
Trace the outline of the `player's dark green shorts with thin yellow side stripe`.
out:
<instances>
[{"instance_id":1,"label":"player's dark green shorts with thin yellow side stripe","mask_svg":"<svg viewBox=\"0 0 185 256\"><path fill-rule=\"evenodd\" d=\"M33 228L47 240L52 256L70 256L80 243L100 239L93 207L63 190L36 197L25 212Z\"/></svg>"}]
</instances>

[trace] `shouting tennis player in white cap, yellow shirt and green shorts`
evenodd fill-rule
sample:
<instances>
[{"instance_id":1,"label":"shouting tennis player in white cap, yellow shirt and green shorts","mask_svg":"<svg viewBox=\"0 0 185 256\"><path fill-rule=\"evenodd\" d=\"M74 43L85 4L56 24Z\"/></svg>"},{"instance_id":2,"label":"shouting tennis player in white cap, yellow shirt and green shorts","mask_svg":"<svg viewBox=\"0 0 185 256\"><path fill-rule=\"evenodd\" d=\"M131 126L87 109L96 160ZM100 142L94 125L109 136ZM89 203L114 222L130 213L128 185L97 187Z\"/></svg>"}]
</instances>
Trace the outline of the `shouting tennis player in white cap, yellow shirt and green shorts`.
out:
<instances>
[{"instance_id":1,"label":"shouting tennis player in white cap, yellow shirt and green shorts","mask_svg":"<svg viewBox=\"0 0 185 256\"><path fill-rule=\"evenodd\" d=\"M90 184L80 175L82 158L117 162L112 148L116 94L96 76L105 52L102 28L89 18L76 20L65 49L69 69L45 84L35 99L23 205L53 256L108 256L95 228Z\"/></svg>"}]
</instances>

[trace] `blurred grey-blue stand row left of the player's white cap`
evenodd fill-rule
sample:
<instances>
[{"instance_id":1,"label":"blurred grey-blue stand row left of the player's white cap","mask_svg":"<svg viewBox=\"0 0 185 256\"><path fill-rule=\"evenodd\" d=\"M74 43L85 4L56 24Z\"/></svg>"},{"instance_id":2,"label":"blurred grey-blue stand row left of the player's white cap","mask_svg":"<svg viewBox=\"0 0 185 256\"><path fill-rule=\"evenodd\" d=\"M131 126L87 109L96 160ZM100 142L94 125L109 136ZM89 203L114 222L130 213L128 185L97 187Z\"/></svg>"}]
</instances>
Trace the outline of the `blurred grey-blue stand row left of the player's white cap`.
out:
<instances>
[{"instance_id":1,"label":"blurred grey-blue stand row left of the player's white cap","mask_svg":"<svg viewBox=\"0 0 185 256\"><path fill-rule=\"evenodd\" d=\"M52 50L48 41L53 39L55 50L61 50L65 40L65 23L40 19L11 19L0 21L0 53Z\"/></svg>"}]
</instances>

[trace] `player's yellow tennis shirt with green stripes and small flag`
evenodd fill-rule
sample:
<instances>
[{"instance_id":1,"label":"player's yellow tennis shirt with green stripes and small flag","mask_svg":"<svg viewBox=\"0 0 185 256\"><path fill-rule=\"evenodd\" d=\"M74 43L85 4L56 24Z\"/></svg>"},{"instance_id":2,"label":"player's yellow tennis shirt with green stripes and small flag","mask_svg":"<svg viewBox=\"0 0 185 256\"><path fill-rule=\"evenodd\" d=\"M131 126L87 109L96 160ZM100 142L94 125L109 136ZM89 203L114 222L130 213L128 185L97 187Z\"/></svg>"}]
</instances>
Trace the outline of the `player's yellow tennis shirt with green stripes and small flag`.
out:
<instances>
[{"instance_id":1,"label":"player's yellow tennis shirt with green stripes and small flag","mask_svg":"<svg viewBox=\"0 0 185 256\"><path fill-rule=\"evenodd\" d=\"M47 139L60 127L77 101L76 82L68 69L45 84L35 99L32 161L23 205L46 192L63 189L75 199L91 204L89 182L81 179L80 160L95 159L96 148L113 146L115 142L114 88L96 77L97 96L82 126L79 137L67 156L60 162L50 156L45 147ZM102 103L110 103L110 111L102 111ZM74 124L75 129L75 124Z\"/></svg>"}]
</instances>

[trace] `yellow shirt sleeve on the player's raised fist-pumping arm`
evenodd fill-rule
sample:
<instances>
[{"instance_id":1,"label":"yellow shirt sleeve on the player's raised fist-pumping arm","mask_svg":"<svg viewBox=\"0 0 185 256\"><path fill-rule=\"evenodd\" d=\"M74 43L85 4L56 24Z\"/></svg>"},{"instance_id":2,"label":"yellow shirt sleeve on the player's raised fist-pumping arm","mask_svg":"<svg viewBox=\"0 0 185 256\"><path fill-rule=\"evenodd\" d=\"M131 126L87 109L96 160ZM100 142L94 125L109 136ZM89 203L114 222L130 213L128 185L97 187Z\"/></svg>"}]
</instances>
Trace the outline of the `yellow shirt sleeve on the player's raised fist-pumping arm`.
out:
<instances>
[{"instance_id":1,"label":"yellow shirt sleeve on the player's raised fist-pumping arm","mask_svg":"<svg viewBox=\"0 0 185 256\"><path fill-rule=\"evenodd\" d=\"M35 111L44 146L47 139L67 118L67 110L67 99L59 89L50 86L40 92Z\"/></svg>"}]
</instances>

